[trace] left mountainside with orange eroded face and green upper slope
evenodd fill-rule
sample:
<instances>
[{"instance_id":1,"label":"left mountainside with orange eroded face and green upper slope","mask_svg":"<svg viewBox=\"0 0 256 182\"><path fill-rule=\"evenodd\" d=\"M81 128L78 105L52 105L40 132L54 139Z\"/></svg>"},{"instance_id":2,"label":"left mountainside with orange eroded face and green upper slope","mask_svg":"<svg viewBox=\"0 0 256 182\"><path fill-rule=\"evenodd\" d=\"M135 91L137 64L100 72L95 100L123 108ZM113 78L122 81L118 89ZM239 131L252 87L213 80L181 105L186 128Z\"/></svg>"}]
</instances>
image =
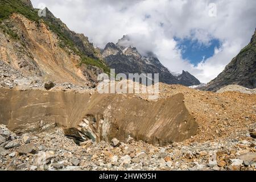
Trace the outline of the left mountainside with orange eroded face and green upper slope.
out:
<instances>
[{"instance_id":1,"label":"left mountainside with orange eroded face and green upper slope","mask_svg":"<svg viewBox=\"0 0 256 182\"><path fill-rule=\"evenodd\" d=\"M47 8L40 17L29 0L0 1L0 60L27 76L94 85L109 72L100 51Z\"/></svg>"}]
</instances>

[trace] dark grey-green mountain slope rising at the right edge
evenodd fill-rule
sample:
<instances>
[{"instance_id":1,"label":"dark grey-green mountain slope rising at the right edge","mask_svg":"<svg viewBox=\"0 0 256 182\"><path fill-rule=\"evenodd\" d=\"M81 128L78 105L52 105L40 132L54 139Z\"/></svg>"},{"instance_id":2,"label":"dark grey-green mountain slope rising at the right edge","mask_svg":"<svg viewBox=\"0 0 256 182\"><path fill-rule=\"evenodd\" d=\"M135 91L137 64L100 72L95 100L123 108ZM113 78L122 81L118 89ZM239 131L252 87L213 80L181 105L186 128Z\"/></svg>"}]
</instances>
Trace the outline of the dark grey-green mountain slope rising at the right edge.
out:
<instances>
[{"instance_id":1,"label":"dark grey-green mountain slope rising at the right edge","mask_svg":"<svg viewBox=\"0 0 256 182\"><path fill-rule=\"evenodd\" d=\"M226 85L256 88L256 30L250 43L203 90L217 91Z\"/></svg>"}]
</instances>

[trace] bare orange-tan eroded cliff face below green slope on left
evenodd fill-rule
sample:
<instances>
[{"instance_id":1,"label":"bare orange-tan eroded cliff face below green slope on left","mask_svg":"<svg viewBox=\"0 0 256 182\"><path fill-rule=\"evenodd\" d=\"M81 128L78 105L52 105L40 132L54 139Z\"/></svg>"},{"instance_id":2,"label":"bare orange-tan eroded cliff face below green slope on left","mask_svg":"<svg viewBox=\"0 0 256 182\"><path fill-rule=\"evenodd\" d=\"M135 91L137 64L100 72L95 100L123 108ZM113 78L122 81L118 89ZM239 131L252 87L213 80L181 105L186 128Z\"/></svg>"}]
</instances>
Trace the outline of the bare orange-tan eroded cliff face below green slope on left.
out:
<instances>
[{"instance_id":1,"label":"bare orange-tan eroded cliff face below green slope on left","mask_svg":"<svg viewBox=\"0 0 256 182\"><path fill-rule=\"evenodd\" d=\"M79 68L80 57L59 47L59 37L44 23L36 23L13 14L6 23L13 26L22 40L9 38L0 29L0 59L26 75L44 80L85 84L88 77Z\"/></svg>"}]
</instances>

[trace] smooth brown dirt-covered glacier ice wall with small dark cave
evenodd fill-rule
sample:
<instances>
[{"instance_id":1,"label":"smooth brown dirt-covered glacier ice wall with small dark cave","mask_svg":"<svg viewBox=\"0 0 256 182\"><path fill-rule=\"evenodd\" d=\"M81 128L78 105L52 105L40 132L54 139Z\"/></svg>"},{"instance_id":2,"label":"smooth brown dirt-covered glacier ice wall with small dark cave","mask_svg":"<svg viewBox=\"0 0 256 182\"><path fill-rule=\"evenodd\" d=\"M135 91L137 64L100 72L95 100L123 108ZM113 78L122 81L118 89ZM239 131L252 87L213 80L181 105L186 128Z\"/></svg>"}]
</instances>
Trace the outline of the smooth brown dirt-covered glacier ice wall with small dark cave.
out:
<instances>
[{"instance_id":1,"label":"smooth brown dirt-covered glacier ice wall with small dark cave","mask_svg":"<svg viewBox=\"0 0 256 182\"><path fill-rule=\"evenodd\" d=\"M80 141L125 141L130 136L164 146L197 132L183 101L183 94L148 102L123 94L1 89L0 121L18 133L44 121L60 125L68 137Z\"/></svg>"}]
</instances>

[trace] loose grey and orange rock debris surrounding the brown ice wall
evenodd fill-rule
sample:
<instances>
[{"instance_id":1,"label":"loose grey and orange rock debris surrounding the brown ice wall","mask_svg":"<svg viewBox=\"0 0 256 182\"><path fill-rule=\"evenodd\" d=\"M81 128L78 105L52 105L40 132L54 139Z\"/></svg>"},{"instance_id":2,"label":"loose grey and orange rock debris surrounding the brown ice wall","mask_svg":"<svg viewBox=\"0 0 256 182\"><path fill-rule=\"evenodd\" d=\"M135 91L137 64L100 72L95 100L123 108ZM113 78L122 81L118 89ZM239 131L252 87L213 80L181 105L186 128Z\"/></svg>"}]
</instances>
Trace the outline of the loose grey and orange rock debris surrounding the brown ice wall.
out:
<instances>
[{"instance_id":1,"label":"loose grey and orange rock debris surrounding the brown ice wall","mask_svg":"<svg viewBox=\"0 0 256 182\"><path fill-rule=\"evenodd\" d=\"M40 79L23 76L7 65L1 65L0 71L1 88L46 90ZM55 84L48 92L55 91L89 93L90 96L97 92L95 88L68 83ZM183 94L185 107L198 124L196 135L183 142L153 146L133 138L121 142L117 137L109 142L85 140L77 144L65 136L63 127L56 123L39 120L38 130L20 130L16 134L0 125L0 169L256 170L255 94L230 89L221 93L203 92L160 84L159 100L176 94ZM133 97L155 102L145 94Z\"/></svg>"}]
</instances>

